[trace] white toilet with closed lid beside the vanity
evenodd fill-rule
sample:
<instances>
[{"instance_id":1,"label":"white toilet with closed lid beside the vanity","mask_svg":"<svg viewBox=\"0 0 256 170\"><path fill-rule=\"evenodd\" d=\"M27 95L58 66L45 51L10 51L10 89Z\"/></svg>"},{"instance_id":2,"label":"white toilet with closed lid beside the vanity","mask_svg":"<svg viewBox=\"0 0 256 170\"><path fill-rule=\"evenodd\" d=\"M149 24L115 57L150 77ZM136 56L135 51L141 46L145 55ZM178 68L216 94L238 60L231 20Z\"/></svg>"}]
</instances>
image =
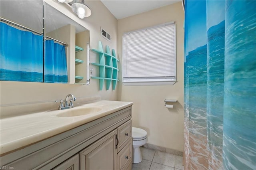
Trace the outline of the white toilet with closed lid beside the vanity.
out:
<instances>
[{"instance_id":1,"label":"white toilet with closed lid beside the vanity","mask_svg":"<svg viewBox=\"0 0 256 170\"><path fill-rule=\"evenodd\" d=\"M146 144L147 141L146 130L132 127L132 163L140 163L142 161L140 146Z\"/></svg>"}]
</instances>

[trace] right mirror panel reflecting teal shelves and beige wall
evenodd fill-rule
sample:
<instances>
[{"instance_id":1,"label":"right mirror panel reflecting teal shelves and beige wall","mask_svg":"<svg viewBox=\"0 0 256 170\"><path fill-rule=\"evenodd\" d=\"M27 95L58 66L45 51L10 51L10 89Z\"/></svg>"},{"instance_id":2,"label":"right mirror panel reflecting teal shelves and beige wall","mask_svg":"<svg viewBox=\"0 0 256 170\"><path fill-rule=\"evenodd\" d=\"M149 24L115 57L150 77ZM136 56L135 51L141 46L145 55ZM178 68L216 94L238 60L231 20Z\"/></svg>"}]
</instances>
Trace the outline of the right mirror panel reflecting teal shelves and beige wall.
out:
<instances>
[{"instance_id":1,"label":"right mirror panel reflecting teal shelves and beige wall","mask_svg":"<svg viewBox=\"0 0 256 170\"><path fill-rule=\"evenodd\" d=\"M67 4L60 3L67 8L70 8ZM71 13L74 15L73 13ZM88 68L89 68L89 30L70 19L65 14L56 10L49 4L44 5L44 38L45 38L45 82L57 82L61 83L68 77L70 83L89 83ZM54 57L48 55L48 51L52 51L52 44L58 43L64 46L67 59L67 70L60 64L65 65L65 60L57 54ZM55 61L54 61L55 60ZM54 63L54 64L49 64ZM49 67L46 67L46 64ZM54 69L54 65L58 65L59 70ZM53 74L55 72L55 75ZM48 75L50 73L50 75ZM53 76L54 75L54 76Z\"/></svg>"}]
</instances>

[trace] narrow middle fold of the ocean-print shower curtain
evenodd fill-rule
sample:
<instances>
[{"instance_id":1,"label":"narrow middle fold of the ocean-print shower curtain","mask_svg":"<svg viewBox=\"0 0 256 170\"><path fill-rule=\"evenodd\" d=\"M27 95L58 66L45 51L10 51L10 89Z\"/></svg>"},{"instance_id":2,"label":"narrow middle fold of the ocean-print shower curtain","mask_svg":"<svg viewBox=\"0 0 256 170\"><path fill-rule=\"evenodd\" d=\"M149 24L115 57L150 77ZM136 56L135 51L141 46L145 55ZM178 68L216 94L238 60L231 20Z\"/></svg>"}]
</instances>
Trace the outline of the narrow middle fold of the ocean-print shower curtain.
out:
<instances>
[{"instance_id":1,"label":"narrow middle fold of the ocean-print shower curtain","mask_svg":"<svg viewBox=\"0 0 256 170\"><path fill-rule=\"evenodd\" d=\"M206 1L207 148L211 169L222 169L225 1Z\"/></svg>"}]
</instances>

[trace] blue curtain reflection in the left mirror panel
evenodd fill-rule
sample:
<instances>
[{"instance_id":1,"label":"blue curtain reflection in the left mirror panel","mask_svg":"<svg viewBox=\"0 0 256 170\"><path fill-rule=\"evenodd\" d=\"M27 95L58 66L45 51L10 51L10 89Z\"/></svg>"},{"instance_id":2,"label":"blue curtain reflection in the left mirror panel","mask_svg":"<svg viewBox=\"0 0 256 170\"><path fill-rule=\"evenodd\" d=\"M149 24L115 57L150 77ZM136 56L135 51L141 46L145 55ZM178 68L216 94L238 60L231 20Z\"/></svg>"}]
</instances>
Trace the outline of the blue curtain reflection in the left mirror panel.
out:
<instances>
[{"instance_id":1,"label":"blue curtain reflection in the left mirror panel","mask_svg":"<svg viewBox=\"0 0 256 170\"><path fill-rule=\"evenodd\" d=\"M43 81L43 36L0 23L0 80Z\"/></svg>"}]
</instances>

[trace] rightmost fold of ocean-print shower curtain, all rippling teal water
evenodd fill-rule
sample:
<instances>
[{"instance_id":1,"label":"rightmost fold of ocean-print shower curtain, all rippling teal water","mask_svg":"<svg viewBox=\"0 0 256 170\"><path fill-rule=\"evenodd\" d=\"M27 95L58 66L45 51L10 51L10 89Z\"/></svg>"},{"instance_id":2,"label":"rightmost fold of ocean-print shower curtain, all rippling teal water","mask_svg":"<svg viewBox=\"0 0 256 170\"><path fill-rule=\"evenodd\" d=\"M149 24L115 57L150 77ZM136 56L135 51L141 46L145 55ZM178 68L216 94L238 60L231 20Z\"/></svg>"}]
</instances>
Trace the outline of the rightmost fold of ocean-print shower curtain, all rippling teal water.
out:
<instances>
[{"instance_id":1,"label":"rightmost fold of ocean-print shower curtain, all rippling teal water","mask_svg":"<svg viewBox=\"0 0 256 170\"><path fill-rule=\"evenodd\" d=\"M256 1L226 1L223 160L256 169Z\"/></svg>"}]
</instances>

